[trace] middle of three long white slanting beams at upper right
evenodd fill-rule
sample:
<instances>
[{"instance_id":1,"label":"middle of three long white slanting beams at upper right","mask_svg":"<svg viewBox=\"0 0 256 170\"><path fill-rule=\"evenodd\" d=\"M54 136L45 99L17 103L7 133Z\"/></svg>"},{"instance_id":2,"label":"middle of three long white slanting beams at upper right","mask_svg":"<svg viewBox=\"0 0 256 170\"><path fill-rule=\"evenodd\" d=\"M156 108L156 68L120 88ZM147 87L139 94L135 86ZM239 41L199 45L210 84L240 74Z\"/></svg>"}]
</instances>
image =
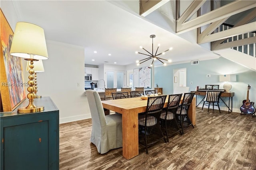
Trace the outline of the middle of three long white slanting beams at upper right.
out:
<instances>
[{"instance_id":1,"label":"middle of three long white slanting beams at upper right","mask_svg":"<svg viewBox=\"0 0 256 170\"><path fill-rule=\"evenodd\" d=\"M256 30L256 21L245 24L245 25L241 25L239 27L235 27L235 28L227 29L225 31L220 31L218 33L207 35L206 37L204 37L204 39L200 43L217 41L220 39L233 37L235 35L241 35L243 33L248 33L255 30Z\"/></svg>"}]
</instances>

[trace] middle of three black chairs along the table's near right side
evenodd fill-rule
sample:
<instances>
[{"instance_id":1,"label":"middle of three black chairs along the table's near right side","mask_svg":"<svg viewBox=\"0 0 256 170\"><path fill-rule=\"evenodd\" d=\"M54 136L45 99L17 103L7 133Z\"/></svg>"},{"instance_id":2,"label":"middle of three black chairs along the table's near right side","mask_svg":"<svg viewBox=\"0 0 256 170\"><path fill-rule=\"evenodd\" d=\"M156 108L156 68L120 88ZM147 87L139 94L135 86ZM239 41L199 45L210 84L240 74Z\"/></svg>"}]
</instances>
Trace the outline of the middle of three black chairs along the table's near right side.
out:
<instances>
[{"instance_id":1,"label":"middle of three black chairs along the table's near right side","mask_svg":"<svg viewBox=\"0 0 256 170\"><path fill-rule=\"evenodd\" d=\"M166 135L167 142L169 136L182 131L177 123L176 112L178 110L182 94L171 94L168 97L168 105L164 108L163 113L160 115L160 125L164 135Z\"/></svg>"}]
</instances>

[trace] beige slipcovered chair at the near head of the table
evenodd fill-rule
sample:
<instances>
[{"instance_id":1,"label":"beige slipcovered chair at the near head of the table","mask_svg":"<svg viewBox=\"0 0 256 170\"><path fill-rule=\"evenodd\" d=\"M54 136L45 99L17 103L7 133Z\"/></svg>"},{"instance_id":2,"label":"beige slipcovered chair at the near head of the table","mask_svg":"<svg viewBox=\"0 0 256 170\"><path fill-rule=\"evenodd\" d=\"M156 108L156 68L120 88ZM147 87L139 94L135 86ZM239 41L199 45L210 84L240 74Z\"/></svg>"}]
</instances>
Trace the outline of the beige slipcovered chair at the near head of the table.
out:
<instances>
[{"instance_id":1,"label":"beige slipcovered chair at the near head of the table","mask_svg":"<svg viewBox=\"0 0 256 170\"><path fill-rule=\"evenodd\" d=\"M90 141L100 154L122 147L122 115L104 115L98 92L85 90L92 116Z\"/></svg>"}]
</instances>

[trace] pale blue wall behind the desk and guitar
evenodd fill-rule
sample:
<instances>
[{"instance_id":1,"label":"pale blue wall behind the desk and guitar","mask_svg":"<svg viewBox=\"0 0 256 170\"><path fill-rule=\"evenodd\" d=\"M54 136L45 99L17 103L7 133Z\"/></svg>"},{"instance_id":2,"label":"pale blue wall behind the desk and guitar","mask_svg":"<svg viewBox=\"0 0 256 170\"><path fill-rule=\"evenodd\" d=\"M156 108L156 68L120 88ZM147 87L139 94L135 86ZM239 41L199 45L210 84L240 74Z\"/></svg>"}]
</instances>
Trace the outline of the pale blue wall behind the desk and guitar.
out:
<instances>
[{"instance_id":1,"label":"pale blue wall behind the desk and guitar","mask_svg":"<svg viewBox=\"0 0 256 170\"><path fill-rule=\"evenodd\" d=\"M187 86L190 87L190 91L194 91L196 86L204 88L205 84L219 84L220 89L223 89L224 82L219 82L219 75L236 74L236 82L230 82L232 84L231 92L235 92L233 97L234 112L240 112L242 101L246 100L248 84L251 86L249 99L251 102L256 102L256 72L223 57L199 61L199 64L195 65L184 63L155 67L155 84L163 88L163 94L173 93L173 70L178 68L186 68ZM206 77L207 74L210 74L211 77ZM202 100L202 96L198 96L198 102L200 100ZM228 98L224 98L224 102L227 103ZM222 110L227 110L223 103L220 103L220 107ZM254 107L256 107L255 104Z\"/></svg>"}]
</instances>

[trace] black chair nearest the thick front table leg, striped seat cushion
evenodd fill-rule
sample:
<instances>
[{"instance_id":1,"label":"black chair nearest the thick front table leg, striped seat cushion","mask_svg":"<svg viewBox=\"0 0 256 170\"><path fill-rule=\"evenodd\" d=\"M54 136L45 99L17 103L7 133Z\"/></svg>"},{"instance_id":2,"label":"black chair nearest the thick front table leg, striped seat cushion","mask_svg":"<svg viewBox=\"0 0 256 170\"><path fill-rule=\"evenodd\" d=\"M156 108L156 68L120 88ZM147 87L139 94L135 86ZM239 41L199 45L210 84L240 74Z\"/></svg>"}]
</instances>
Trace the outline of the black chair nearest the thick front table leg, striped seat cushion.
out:
<instances>
[{"instance_id":1,"label":"black chair nearest the thick front table leg, striped seat cushion","mask_svg":"<svg viewBox=\"0 0 256 170\"><path fill-rule=\"evenodd\" d=\"M146 153L149 145L162 139L166 143L159 123L165 100L166 95L148 97L146 112L138 114L139 143L146 146Z\"/></svg>"}]
</instances>

